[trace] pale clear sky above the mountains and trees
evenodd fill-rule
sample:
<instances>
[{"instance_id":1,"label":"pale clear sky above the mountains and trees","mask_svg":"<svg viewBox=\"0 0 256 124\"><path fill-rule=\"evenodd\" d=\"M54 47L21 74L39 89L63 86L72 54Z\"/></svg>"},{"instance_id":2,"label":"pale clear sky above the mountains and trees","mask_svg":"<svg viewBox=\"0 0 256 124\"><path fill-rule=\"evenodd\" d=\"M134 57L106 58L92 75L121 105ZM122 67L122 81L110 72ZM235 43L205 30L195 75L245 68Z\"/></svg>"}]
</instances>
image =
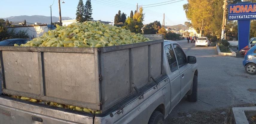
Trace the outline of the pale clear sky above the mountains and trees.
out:
<instances>
[{"instance_id":1,"label":"pale clear sky above the mountains and trees","mask_svg":"<svg viewBox=\"0 0 256 124\"><path fill-rule=\"evenodd\" d=\"M62 3L62 2L65 3ZM70 18L76 18L77 4L79 0L61 0L61 16L67 16ZM131 10L136 10L136 4L138 5L148 5L155 3L171 3L166 5L161 5L157 7L144 7L144 24L148 24L153 21L163 22L163 14L165 14L165 25L177 25L184 24L187 21L185 11L183 10L183 4L187 3L187 0L91 0L92 3L92 17L94 20L101 21L114 21L115 14L118 10L121 13L130 16ZM86 0L83 0L86 3ZM53 4L53 5L52 5ZM52 5L52 16L59 17L58 0L25 0L21 2L20 0L0 0L0 18L7 18L10 16L21 16L21 15L42 15L51 16L50 5ZM153 6L153 5L151 5ZM146 8L147 7L147 8Z\"/></svg>"}]
</instances>

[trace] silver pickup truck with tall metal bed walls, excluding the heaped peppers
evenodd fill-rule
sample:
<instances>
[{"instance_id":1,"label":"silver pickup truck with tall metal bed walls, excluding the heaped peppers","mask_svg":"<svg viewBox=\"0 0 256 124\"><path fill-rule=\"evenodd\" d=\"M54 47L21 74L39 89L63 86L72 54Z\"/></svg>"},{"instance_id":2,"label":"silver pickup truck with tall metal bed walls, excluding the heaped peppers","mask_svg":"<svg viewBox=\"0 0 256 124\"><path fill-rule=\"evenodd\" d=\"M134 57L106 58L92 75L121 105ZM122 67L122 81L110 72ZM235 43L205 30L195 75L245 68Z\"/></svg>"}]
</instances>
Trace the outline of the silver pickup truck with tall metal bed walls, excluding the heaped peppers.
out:
<instances>
[{"instance_id":1,"label":"silver pickup truck with tall metal bed walls, excluding the heaped peppers","mask_svg":"<svg viewBox=\"0 0 256 124\"><path fill-rule=\"evenodd\" d=\"M163 124L182 97L197 101L196 58L173 41L81 49L0 47L0 57L1 124Z\"/></svg>"}]
</instances>

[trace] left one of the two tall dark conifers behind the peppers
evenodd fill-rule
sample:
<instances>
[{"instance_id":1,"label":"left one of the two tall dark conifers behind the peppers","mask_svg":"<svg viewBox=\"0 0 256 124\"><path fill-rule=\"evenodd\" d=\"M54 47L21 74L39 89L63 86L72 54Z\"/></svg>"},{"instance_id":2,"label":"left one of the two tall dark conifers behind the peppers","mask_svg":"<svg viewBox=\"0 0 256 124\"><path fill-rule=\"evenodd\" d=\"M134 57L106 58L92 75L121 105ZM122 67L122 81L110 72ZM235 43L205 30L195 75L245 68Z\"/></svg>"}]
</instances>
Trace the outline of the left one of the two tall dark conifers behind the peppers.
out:
<instances>
[{"instance_id":1,"label":"left one of the two tall dark conifers behind the peppers","mask_svg":"<svg viewBox=\"0 0 256 124\"><path fill-rule=\"evenodd\" d=\"M85 6L83 4L83 0L79 0L78 2L76 16L77 22L85 21Z\"/></svg>"}]
</instances>

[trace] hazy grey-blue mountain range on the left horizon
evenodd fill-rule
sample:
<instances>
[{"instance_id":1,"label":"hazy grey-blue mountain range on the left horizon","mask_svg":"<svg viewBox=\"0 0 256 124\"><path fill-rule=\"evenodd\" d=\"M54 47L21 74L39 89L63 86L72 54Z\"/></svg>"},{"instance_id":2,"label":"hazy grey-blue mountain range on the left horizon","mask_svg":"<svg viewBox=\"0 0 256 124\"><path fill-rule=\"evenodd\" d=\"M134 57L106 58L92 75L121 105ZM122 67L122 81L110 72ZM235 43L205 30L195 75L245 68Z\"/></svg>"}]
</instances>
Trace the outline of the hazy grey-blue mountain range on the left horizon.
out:
<instances>
[{"instance_id":1,"label":"hazy grey-blue mountain range on the left horizon","mask_svg":"<svg viewBox=\"0 0 256 124\"><path fill-rule=\"evenodd\" d=\"M13 23L19 23L19 22L24 22L24 20L26 19L26 22L29 23L35 23L35 22L40 22L43 24L51 24L51 16L39 16L39 15L33 15L33 16L10 16L7 18L0 18L0 19L4 19L6 21L6 19L8 19L9 21L12 21ZM72 19L70 17L61 17L61 20L69 20ZM57 22L59 21L59 17L56 16L52 16L52 22Z\"/></svg>"}]
</instances>

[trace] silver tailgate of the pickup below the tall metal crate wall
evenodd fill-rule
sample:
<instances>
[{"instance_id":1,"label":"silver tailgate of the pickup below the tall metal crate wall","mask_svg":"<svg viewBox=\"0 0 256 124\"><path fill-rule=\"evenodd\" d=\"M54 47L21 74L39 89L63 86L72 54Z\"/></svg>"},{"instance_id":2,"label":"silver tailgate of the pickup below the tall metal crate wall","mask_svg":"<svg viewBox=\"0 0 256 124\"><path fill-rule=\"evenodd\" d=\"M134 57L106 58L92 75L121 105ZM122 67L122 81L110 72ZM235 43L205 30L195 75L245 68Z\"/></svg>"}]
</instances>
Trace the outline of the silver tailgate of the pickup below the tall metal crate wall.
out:
<instances>
[{"instance_id":1,"label":"silver tailgate of the pickup below the tall metal crate wall","mask_svg":"<svg viewBox=\"0 0 256 124\"><path fill-rule=\"evenodd\" d=\"M0 124L93 123L92 114L38 104L0 95Z\"/></svg>"}]
</instances>

